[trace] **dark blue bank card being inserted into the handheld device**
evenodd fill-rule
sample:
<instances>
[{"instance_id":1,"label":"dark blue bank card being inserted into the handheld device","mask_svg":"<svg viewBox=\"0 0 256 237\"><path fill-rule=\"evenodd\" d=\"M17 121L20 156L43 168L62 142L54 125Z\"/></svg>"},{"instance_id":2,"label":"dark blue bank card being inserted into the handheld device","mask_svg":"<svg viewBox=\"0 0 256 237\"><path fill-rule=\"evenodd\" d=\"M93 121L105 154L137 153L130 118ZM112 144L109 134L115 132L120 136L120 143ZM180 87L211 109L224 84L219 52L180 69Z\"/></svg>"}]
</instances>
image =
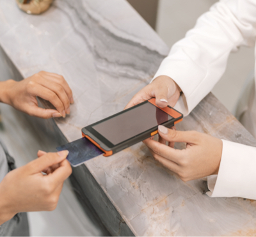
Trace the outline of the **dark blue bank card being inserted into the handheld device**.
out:
<instances>
[{"instance_id":1,"label":"dark blue bank card being inserted into the handheld device","mask_svg":"<svg viewBox=\"0 0 256 237\"><path fill-rule=\"evenodd\" d=\"M74 142L67 143L56 148L58 151L67 149L69 151L67 160L72 166L81 165L87 160L102 155L104 152L97 148L86 137L78 139Z\"/></svg>"}]
</instances>

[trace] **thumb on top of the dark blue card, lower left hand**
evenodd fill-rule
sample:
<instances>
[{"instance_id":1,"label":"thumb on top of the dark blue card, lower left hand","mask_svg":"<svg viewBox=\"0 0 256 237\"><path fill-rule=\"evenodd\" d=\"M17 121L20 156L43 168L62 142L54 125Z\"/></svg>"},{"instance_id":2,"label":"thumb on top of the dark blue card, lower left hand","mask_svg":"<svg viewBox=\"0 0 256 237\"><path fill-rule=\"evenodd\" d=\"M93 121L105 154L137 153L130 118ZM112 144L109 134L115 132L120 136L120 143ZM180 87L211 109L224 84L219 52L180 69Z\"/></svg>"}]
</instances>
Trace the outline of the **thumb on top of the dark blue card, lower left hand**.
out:
<instances>
[{"instance_id":1,"label":"thumb on top of the dark blue card, lower left hand","mask_svg":"<svg viewBox=\"0 0 256 237\"><path fill-rule=\"evenodd\" d=\"M65 158L67 158L68 151L59 151L57 153L47 153L43 155L40 158L37 158L36 160L33 160L32 162L29 162L29 173L35 174L41 171L44 171L48 167L51 167L52 165L59 164Z\"/></svg>"}]
</instances>

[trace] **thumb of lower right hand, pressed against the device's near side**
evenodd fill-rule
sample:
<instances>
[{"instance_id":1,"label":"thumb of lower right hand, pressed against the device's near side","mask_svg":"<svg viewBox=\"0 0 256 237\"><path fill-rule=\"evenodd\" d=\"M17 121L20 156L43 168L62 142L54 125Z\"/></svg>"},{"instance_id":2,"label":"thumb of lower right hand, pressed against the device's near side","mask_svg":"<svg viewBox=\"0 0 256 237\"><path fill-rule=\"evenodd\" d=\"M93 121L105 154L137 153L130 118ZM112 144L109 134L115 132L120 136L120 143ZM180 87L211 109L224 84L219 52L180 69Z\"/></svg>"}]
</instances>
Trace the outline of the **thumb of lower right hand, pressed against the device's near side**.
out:
<instances>
[{"instance_id":1,"label":"thumb of lower right hand, pressed against the device's near side","mask_svg":"<svg viewBox=\"0 0 256 237\"><path fill-rule=\"evenodd\" d=\"M189 142L195 143L197 136L193 131L177 131L168 129L163 125L158 126L159 135L168 142Z\"/></svg>"}]
</instances>

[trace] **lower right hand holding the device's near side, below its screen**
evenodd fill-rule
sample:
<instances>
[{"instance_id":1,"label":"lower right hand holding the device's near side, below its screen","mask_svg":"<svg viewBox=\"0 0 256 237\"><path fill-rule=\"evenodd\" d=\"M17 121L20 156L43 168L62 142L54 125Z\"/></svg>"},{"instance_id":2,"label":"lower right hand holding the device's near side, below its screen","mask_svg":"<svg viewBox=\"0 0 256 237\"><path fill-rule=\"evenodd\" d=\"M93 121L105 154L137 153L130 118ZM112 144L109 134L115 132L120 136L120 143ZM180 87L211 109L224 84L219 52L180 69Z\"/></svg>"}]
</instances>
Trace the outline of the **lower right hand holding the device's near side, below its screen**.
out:
<instances>
[{"instance_id":1,"label":"lower right hand holding the device's near side, below its screen","mask_svg":"<svg viewBox=\"0 0 256 237\"><path fill-rule=\"evenodd\" d=\"M211 135L195 131L176 131L158 126L162 141L170 146L147 139L144 143L153 157L179 176L183 181L196 180L218 174L222 154L222 141ZM186 142L186 149L174 149L173 142Z\"/></svg>"}]
</instances>

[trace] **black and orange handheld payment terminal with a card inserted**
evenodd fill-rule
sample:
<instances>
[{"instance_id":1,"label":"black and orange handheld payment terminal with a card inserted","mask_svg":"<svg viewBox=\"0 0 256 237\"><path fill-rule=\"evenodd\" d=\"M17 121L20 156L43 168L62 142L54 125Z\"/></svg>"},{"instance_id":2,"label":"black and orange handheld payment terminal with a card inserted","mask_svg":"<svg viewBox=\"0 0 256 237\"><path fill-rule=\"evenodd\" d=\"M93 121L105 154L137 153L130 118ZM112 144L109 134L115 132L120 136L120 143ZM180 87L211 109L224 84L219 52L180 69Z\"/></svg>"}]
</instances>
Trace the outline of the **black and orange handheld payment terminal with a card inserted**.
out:
<instances>
[{"instance_id":1,"label":"black and orange handheld payment terminal with a card inserted","mask_svg":"<svg viewBox=\"0 0 256 237\"><path fill-rule=\"evenodd\" d=\"M82 135L108 157L157 134L158 125L171 128L182 118L179 111L169 105L160 108L156 105L156 98L151 98L84 127Z\"/></svg>"}]
</instances>

